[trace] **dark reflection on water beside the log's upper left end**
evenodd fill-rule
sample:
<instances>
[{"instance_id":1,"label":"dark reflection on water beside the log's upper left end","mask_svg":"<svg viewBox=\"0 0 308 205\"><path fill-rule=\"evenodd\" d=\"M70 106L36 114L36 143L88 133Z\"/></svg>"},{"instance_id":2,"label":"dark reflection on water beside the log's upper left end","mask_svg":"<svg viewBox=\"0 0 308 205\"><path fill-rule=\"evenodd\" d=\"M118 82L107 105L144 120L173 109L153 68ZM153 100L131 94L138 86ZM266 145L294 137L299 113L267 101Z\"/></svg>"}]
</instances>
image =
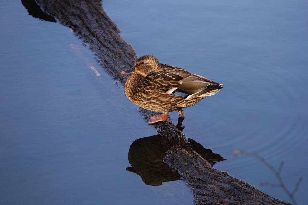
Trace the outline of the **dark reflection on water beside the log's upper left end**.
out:
<instances>
[{"instance_id":1,"label":"dark reflection on water beside the log's upper left end","mask_svg":"<svg viewBox=\"0 0 308 205\"><path fill-rule=\"evenodd\" d=\"M29 15L33 16L34 18L50 22L57 22L53 16L45 13L34 0L21 0L21 3L28 10Z\"/></svg>"}]
</instances>

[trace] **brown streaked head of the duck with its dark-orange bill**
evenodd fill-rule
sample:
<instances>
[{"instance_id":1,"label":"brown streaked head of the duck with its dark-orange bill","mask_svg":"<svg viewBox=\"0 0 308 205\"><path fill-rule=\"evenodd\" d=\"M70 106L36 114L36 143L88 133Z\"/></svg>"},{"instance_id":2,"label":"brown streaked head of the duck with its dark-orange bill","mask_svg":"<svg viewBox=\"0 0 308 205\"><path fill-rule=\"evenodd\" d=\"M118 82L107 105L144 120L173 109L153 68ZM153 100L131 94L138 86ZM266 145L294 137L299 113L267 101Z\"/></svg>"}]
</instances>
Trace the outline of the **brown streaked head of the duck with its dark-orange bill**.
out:
<instances>
[{"instance_id":1,"label":"brown streaked head of the duck with its dark-orange bill","mask_svg":"<svg viewBox=\"0 0 308 205\"><path fill-rule=\"evenodd\" d=\"M160 69L160 63L157 58L152 55L144 55L138 58L132 69L123 71L121 74L139 73L146 77L150 72Z\"/></svg>"}]
</instances>

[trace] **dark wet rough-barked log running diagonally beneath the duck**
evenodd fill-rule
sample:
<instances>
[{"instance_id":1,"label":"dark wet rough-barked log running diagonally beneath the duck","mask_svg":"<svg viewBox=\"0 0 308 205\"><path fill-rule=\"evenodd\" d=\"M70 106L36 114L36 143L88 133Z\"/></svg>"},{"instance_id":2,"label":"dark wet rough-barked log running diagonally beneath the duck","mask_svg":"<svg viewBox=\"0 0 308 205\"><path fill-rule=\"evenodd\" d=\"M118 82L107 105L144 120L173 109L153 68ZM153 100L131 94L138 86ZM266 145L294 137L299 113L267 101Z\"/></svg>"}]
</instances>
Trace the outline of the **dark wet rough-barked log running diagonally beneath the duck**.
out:
<instances>
[{"instance_id":1,"label":"dark wet rough-barked log running diagonally beneath the duck","mask_svg":"<svg viewBox=\"0 0 308 205\"><path fill-rule=\"evenodd\" d=\"M120 38L114 22L97 0L36 0L42 10L60 23L70 26L99 57L97 61L115 79L125 83L121 75L136 62L132 47ZM139 109L145 119L156 115ZM274 199L248 183L234 179L226 172L214 169L187 142L185 135L170 120L153 125L160 136L172 141L164 162L186 180L194 195L195 204L290 204ZM132 170L131 170L132 171ZM177 177L175 177L177 179Z\"/></svg>"}]
</instances>

